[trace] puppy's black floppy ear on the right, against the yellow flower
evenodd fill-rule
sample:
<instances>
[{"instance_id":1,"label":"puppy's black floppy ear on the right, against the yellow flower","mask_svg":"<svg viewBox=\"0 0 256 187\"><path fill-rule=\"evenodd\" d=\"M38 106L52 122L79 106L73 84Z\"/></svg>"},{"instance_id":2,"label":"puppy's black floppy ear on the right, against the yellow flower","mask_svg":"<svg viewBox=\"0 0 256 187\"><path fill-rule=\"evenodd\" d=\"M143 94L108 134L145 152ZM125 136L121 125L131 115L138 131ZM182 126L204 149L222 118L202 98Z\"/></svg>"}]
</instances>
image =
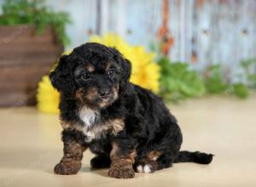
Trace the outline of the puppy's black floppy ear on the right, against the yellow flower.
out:
<instances>
[{"instance_id":1,"label":"puppy's black floppy ear on the right, against the yellow flower","mask_svg":"<svg viewBox=\"0 0 256 187\"><path fill-rule=\"evenodd\" d=\"M125 59L122 54L115 48L111 48L114 59L121 66L121 81L120 87L125 87L126 83L129 82L131 77L131 62L129 59Z\"/></svg>"}]
</instances>

